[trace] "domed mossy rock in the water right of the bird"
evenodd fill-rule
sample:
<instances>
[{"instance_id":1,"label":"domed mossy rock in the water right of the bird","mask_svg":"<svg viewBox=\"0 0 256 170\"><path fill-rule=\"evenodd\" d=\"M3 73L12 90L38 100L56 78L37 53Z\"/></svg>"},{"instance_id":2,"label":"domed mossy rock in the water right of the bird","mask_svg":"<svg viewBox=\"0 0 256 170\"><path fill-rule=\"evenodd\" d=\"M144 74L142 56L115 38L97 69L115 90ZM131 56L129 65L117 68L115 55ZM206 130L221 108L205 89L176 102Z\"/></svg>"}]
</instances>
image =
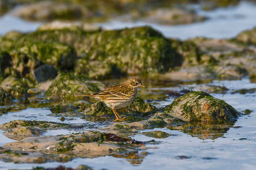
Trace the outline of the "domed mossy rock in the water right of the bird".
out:
<instances>
[{"instance_id":1,"label":"domed mossy rock in the water right of the bird","mask_svg":"<svg viewBox=\"0 0 256 170\"><path fill-rule=\"evenodd\" d=\"M186 122L230 122L240 114L223 100L202 91L176 98L163 112Z\"/></svg>"}]
</instances>

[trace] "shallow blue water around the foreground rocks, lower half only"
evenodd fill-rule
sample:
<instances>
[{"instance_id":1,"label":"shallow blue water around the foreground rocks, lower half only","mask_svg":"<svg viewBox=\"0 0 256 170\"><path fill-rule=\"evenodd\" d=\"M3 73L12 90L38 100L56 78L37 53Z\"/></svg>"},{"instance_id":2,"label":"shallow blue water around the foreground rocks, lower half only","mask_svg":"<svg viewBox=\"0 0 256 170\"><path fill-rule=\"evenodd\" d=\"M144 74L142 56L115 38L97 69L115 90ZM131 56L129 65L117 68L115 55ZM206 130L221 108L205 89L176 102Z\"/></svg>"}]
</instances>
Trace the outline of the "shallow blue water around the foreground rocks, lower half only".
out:
<instances>
[{"instance_id":1,"label":"shallow blue water around the foreground rocks, lower half only","mask_svg":"<svg viewBox=\"0 0 256 170\"><path fill-rule=\"evenodd\" d=\"M253 88L256 83L251 83L248 78L241 80L215 80L209 84L224 85L230 90L227 94L212 94L216 98L224 99L238 111L243 112L250 109L253 112L249 115L240 116L233 127L224 128L224 130L209 131L203 135L193 133L193 126L188 126L185 130L169 130L165 128L156 128L154 130L162 130L166 133L173 134L165 139L154 139L144 135L131 136L139 141L155 141L160 144L146 144L148 147L144 158L140 161L116 158L113 156L105 156L99 158L76 158L66 163L49 162L44 164L15 164L0 161L0 168L31 168L35 166L57 167L58 165L66 165L67 167L77 167L79 164L86 164L95 170L106 168L108 170L155 170L155 169L255 169L256 162L256 93L254 94L231 94L233 90L241 88ZM180 89L190 88L192 85L178 85ZM239 87L239 88L238 88ZM156 89L156 88L151 88ZM148 91L151 91L149 88ZM157 88L158 90L166 90L166 88ZM164 102L159 102L161 106L170 104L174 98L167 98ZM44 108L27 108L25 110L9 112L0 116L0 123L9 122L15 119L32 119L32 120L48 120L61 122L60 117L49 116L51 112ZM69 117L66 117L69 119ZM71 117L70 117L71 119ZM73 117L72 120L65 120L65 123L75 125L85 125L84 129L77 130L49 130L44 135L69 134L73 132L81 132L86 130L96 130L106 125L102 122L88 122L79 117ZM92 125L88 128L88 124ZM96 124L93 126L93 124ZM111 124L108 122L107 124ZM172 128L171 128L172 129ZM208 130L208 129L206 129ZM151 130L145 130L151 131ZM203 137L202 137L203 136ZM213 137L212 137L213 136ZM216 137L217 136L217 137ZM214 140L213 140L214 139ZM12 142L0 133L0 144ZM142 162L141 162L142 161ZM133 164L132 164L132 163Z\"/></svg>"}]
</instances>

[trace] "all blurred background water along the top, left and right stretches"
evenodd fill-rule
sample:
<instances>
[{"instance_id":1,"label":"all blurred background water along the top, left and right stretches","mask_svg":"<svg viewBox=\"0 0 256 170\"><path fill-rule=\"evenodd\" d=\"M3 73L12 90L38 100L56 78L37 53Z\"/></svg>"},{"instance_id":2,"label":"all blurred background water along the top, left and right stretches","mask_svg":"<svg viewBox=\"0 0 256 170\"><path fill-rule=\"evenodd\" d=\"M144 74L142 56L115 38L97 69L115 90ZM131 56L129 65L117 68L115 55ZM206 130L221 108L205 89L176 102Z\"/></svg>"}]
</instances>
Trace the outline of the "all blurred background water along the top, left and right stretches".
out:
<instances>
[{"instance_id":1,"label":"all blurred background water along the top, left and right stretches","mask_svg":"<svg viewBox=\"0 0 256 170\"><path fill-rule=\"evenodd\" d=\"M209 17L209 20L200 23L166 26L143 21L125 22L122 20L109 20L106 23L97 23L106 29L117 29L134 26L150 25L161 31L166 37L185 40L194 37L232 38L239 32L251 29L256 23L256 4L241 2L238 6L217 8L212 11L203 11L198 5L191 6L198 14ZM18 7L17 7L18 8ZM14 9L15 10L15 9ZM29 22L12 16L12 11L0 17L0 35L11 30L35 31L43 23Z\"/></svg>"}]
</instances>

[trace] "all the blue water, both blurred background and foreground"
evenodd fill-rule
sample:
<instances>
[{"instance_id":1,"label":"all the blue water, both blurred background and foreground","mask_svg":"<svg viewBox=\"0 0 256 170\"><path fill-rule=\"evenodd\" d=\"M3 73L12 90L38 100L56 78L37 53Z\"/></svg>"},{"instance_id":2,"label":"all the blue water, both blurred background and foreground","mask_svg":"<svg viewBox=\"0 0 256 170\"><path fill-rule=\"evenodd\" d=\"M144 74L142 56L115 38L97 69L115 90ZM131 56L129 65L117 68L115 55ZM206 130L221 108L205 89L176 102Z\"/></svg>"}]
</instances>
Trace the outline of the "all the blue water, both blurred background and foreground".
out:
<instances>
[{"instance_id":1,"label":"all the blue water, both blurred background and foreground","mask_svg":"<svg viewBox=\"0 0 256 170\"><path fill-rule=\"evenodd\" d=\"M199 14L209 17L209 20L202 23L193 23L182 26L163 26L150 24L154 28L163 32L168 37L177 37L180 39L192 38L195 36L230 38L236 36L240 31L255 26L256 6L250 3L240 3L239 6L230 8L219 8L214 11L201 11L195 6ZM223 17L225 16L225 17ZM6 14L0 17L0 35L10 30L34 31L42 23L27 22ZM120 22L110 21L101 24L105 28L123 28L142 26L148 23ZM209 82L210 85L224 85L230 90L226 94L212 94L216 98L224 99L238 111L250 109L253 112L249 115L240 116L233 127L227 127L220 130L203 129L206 132L202 134L193 133L197 127L188 126L185 130L170 130L167 128L156 128L166 133L174 134L165 139L154 139L144 135L131 136L140 141L150 141L152 139L160 144L146 144L148 149L140 160L131 160L125 158L116 158L105 156L99 158L76 158L66 163L48 162L45 164L15 164L12 162L0 161L0 170L6 169L26 169L35 166L57 167L66 165L67 167L77 167L79 164L86 164L93 167L94 170L106 168L108 170L183 170L183 169L226 169L226 170L252 170L256 169L256 93L253 94L231 94L234 90L243 88L255 88L256 83L250 82L248 78L241 80L215 80ZM177 85L159 86L151 85L146 91L170 91L180 89L191 89L198 86L195 83L180 83ZM156 93L157 94L157 93ZM139 91L140 95L140 91ZM143 99L150 99L143 97ZM174 97L166 96L163 100L151 101L157 107L169 105ZM5 114L0 114L0 124L15 119L26 120L46 120L61 122L60 117L50 116L49 108L32 108L31 106L19 110L15 109ZM82 132L87 130L99 130L112 122L90 122L80 117L66 117L64 123L72 125L82 125L83 128L76 130L61 129L49 130L44 135L69 134L73 132ZM151 130L150 130L151 131ZM6 138L3 131L0 130L0 145L14 140Z\"/></svg>"}]
</instances>

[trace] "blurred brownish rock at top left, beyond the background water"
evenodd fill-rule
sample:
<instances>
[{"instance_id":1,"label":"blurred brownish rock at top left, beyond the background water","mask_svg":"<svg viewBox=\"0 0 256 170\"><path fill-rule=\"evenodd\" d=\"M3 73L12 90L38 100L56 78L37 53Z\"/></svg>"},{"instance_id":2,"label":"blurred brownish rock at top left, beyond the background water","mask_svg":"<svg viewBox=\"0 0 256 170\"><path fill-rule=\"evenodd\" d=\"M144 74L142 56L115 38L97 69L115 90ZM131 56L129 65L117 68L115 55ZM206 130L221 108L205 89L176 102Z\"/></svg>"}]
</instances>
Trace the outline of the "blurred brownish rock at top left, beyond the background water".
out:
<instances>
[{"instance_id":1,"label":"blurred brownish rock at top left, beyond the background water","mask_svg":"<svg viewBox=\"0 0 256 170\"><path fill-rule=\"evenodd\" d=\"M44 0L24 2L13 14L27 20L85 20L87 22L105 21L108 17L115 17L124 13L127 9L116 0ZM44 10L41 10L41 9Z\"/></svg>"}]
</instances>

